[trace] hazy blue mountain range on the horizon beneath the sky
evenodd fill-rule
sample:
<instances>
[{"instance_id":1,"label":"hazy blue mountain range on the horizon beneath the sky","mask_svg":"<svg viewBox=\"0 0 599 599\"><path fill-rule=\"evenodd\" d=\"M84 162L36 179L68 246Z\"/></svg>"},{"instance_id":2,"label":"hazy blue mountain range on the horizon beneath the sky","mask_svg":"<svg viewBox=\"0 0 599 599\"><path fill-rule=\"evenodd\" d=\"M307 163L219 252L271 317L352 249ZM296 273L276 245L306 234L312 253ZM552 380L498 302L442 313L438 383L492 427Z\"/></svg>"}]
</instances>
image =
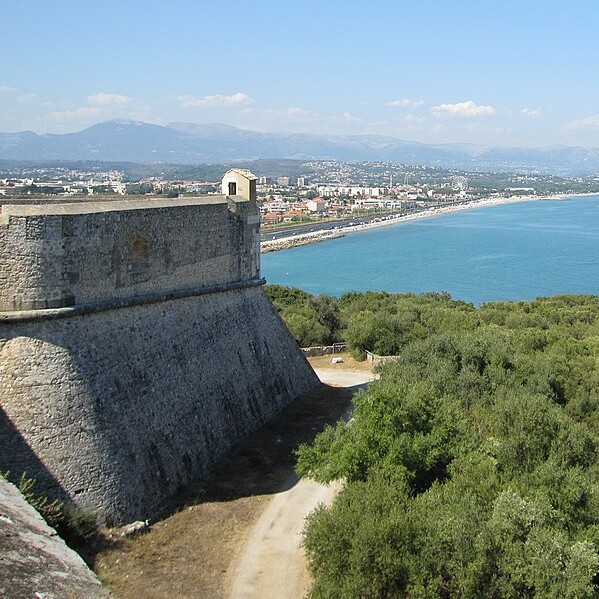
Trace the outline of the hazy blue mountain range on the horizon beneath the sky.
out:
<instances>
[{"instance_id":1,"label":"hazy blue mountain range on the horizon beneath the sky","mask_svg":"<svg viewBox=\"0 0 599 599\"><path fill-rule=\"evenodd\" d=\"M424 144L383 135L260 133L223 124L106 121L83 131L0 133L0 159L198 164L257 159L372 160L478 171L588 175L599 149Z\"/></svg>"}]
</instances>

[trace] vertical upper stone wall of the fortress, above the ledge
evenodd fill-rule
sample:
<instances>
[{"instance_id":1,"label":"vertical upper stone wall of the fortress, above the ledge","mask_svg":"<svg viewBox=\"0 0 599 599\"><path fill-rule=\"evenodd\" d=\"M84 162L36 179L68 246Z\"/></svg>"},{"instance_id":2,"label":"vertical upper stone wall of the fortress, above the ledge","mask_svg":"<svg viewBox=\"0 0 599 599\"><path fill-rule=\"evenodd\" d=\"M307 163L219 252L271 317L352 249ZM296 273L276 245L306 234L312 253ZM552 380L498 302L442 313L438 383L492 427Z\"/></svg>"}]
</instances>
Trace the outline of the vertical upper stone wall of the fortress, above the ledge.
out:
<instances>
[{"instance_id":1,"label":"vertical upper stone wall of the fortress, above the ledge","mask_svg":"<svg viewBox=\"0 0 599 599\"><path fill-rule=\"evenodd\" d=\"M90 304L259 276L258 221L224 196L6 206L0 311ZM198 208L200 206L200 208Z\"/></svg>"}]
</instances>

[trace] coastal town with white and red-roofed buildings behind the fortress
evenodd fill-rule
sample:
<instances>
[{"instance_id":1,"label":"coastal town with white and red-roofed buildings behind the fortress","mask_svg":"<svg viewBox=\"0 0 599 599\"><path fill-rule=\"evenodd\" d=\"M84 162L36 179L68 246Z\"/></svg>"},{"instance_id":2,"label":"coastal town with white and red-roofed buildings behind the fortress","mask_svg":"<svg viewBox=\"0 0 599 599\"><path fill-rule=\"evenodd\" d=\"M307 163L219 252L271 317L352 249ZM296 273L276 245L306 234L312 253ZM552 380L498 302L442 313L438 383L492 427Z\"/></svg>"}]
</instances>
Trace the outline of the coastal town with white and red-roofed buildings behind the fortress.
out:
<instances>
[{"instance_id":1,"label":"coastal town with white and red-roofed buildings behind the fortress","mask_svg":"<svg viewBox=\"0 0 599 599\"><path fill-rule=\"evenodd\" d=\"M599 177L487 173L390 162L260 160L257 175L262 251L324 241L364 228L448 211L594 193ZM177 198L221 193L225 165L106 163L2 164L0 195L56 201L106 195Z\"/></svg>"}]
</instances>

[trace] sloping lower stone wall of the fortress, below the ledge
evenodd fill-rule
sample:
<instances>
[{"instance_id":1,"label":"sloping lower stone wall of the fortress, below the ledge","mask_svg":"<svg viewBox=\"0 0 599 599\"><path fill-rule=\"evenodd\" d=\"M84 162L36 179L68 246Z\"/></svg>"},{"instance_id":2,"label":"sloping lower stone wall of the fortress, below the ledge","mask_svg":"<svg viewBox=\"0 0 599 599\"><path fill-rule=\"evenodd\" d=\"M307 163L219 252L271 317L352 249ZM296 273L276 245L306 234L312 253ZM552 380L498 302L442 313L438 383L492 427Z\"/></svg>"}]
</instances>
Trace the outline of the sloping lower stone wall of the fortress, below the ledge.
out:
<instances>
[{"instance_id":1,"label":"sloping lower stone wall of the fortress, below the ledge","mask_svg":"<svg viewBox=\"0 0 599 599\"><path fill-rule=\"evenodd\" d=\"M0 470L107 523L152 518L316 383L259 287L4 323Z\"/></svg>"}]
</instances>

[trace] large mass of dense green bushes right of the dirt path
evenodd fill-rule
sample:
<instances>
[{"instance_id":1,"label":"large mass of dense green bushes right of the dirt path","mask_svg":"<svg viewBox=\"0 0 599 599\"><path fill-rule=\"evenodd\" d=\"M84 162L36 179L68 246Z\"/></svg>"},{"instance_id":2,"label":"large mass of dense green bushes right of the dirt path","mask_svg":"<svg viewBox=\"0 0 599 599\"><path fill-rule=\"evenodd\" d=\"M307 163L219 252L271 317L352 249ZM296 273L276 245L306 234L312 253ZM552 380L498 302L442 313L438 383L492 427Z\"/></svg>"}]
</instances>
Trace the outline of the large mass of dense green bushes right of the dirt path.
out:
<instances>
[{"instance_id":1,"label":"large mass of dense green bushes right of the dirt path","mask_svg":"<svg viewBox=\"0 0 599 599\"><path fill-rule=\"evenodd\" d=\"M599 299L337 305L399 357L299 451L344 480L307 522L312 596L599 597Z\"/></svg>"}]
</instances>

